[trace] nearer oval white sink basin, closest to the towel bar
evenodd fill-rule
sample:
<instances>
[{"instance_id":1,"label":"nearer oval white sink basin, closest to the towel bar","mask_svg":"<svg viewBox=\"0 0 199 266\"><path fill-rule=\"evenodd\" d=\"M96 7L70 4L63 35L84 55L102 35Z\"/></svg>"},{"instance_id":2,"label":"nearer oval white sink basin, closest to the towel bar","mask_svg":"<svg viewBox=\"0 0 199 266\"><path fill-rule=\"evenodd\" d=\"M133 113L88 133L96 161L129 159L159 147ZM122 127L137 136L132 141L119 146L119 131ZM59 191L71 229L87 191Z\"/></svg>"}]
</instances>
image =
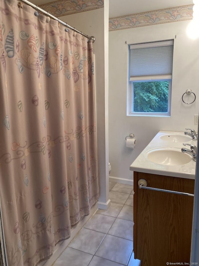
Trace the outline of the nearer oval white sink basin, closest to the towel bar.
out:
<instances>
[{"instance_id":1,"label":"nearer oval white sink basin, closest to the towel bar","mask_svg":"<svg viewBox=\"0 0 199 266\"><path fill-rule=\"evenodd\" d=\"M180 148L155 148L145 155L151 162L163 165L183 165L193 160L191 155L183 153Z\"/></svg>"}]
</instances>

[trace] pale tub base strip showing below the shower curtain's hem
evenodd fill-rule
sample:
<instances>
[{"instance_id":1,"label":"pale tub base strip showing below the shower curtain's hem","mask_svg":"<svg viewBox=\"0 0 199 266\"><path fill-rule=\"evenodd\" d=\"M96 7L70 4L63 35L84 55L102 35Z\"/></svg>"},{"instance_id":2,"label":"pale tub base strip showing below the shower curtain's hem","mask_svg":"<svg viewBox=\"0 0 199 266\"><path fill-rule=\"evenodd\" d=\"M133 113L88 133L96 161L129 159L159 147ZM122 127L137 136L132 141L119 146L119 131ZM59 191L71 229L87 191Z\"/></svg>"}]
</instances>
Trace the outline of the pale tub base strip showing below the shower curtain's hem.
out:
<instances>
[{"instance_id":1,"label":"pale tub base strip showing below the shower curtain's hem","mask_svg":"<svg viewBox=\"0 0 199 266\"><path fill-rule=\"evenodd\" d=\"M79 223L72 227L71 231L71 237L69 239L60 241L56 246L55 250L53 252L53 255L50 257L50 259L41 262L38 266L52 266L53 263L58 259L58 257L62 254L64 249L67 248L67 246L70 244L70 242L75 238L75 236L79 233L79 231L82 229L82 227L86 224L86 222L95 214L95 212L98 209L98 204L96 203L90 210L90 214L88 216L84 216L82 220L79 221Z\"/></svg>"}]
</instances>

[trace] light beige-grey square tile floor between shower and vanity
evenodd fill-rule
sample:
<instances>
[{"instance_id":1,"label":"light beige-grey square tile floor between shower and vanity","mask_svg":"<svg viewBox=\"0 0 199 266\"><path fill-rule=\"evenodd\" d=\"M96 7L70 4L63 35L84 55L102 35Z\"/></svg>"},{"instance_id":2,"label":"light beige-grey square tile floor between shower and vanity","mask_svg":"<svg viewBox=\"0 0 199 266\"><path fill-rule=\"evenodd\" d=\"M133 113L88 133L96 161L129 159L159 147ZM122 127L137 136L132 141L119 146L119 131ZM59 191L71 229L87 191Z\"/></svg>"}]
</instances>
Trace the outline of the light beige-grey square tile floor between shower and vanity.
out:
<instances>
[{"instance_id":1,"label":"light beige-grey square tile floor between shower and vanity","mask_svg":"<svg viewBox=\"0 0 199 266\"><path fill-rule=\"evenodd\" d=\"M97 210L53 266L139 266L133 254L133 186L109 182L111 206Z\"/></svg>"}]
</instances>

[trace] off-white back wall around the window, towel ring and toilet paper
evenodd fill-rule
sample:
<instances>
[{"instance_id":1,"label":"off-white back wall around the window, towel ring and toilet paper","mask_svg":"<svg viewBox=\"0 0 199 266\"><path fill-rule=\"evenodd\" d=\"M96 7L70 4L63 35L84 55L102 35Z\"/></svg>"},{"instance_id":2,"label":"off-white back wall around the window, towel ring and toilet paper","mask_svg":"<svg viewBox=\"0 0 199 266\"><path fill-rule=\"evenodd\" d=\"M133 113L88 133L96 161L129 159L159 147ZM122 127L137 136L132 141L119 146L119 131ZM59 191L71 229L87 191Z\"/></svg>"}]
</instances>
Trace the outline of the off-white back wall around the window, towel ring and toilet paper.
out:
<instances>
[{"instance_id":1,"label":"off-white back wall around the window, towel ring and toilet paper","mask_svg":"<svg viewBox=\"0 0 199 266\"><path fill-rule=\"evenodd\" d=\"M109 32L109 162L112 177L132 183L133 172L129 166L160 130L197 130L194 114L199 113L199 40L187 37L189 23L190 20ZM171 117L127 116L127 44L168 39L174 39ZM190 105L182 102L182 94L187 89L196 94L196 101ZM189 99L193 99L192 96ZM137 140L134 150L125 147L125 137L130 133L134 133Z\"/></svg>"}]
</instances>

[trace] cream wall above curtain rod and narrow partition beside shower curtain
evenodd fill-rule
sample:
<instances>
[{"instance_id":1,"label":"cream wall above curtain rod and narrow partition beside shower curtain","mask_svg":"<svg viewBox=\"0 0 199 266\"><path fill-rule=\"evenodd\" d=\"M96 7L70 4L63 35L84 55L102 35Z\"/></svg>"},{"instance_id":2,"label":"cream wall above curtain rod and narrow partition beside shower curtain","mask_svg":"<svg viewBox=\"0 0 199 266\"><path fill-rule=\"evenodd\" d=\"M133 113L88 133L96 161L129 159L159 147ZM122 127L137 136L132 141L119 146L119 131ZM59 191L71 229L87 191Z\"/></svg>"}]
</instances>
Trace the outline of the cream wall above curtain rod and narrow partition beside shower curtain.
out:
<instances>
[{"instance_id":1,"label":"cream wall above curtain rod and narrow partition beside shower curtain","mask_svg":"<svg viewBox=\"0 0 199 266\"><path fill-rule=\"evenodd\" d=\"M104 8L75 13L61 19L89 36L95 36L96 125L99 168L99 208L107 209L109 200L108 143L108 17L109 1Z\"/></svg>"}]
</instances>

